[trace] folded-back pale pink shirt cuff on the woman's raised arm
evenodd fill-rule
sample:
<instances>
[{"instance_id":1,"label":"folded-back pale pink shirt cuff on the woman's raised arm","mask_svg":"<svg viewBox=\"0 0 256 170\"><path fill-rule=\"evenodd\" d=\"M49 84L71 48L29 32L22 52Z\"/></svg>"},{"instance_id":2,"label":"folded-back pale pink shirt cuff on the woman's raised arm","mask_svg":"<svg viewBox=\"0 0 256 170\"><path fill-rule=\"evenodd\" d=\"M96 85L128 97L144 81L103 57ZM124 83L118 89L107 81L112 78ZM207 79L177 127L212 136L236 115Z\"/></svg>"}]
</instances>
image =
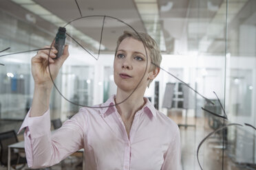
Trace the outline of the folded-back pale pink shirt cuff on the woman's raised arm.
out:
<instances>
[{"instance_id":1,"label":"folded-back pale pink shirt cuff on the woman's raised arm","mask_svg":"<svg viewBox=\"0 0 256 170\"><path fill-rule=\"evenodd\" d=\"M19 129L18 134L25 127L27 127L28 131L30 131L31 138L38 138L45 134L48 134L51 129L50 109L48 109L40 117L30 117L30 110L29 110L28 114L25 116L25 119Z\"/></svg>"}]
</instances>

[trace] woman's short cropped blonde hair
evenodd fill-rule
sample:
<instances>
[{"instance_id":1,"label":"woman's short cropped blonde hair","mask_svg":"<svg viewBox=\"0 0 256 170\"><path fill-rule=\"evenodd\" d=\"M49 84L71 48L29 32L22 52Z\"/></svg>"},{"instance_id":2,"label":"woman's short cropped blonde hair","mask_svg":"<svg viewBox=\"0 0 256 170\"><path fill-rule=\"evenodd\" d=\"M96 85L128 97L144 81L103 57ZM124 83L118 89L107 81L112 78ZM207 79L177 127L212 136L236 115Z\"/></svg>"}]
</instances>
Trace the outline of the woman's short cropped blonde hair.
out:
<instances>
[{"instance_id":1,"label":"woman's short cropped blonde hair","mask_svg":"<svg viewBox=\"0 0 256 170\"><path fill-rule=\"evenodd\" d=\"M153 38L151 38L151 36L149 36L149 34L146 34L143 32L125 31L121 36L119 36L119 38L117 40L116 52L118 51L118 47L119 47L120 43L125 38L134 38L136 40L139 40L140 42L142 42L145 45L145 47L147 47L147 49L149 50L148 56L150 56L151 62L153 62L153 64L150 63L149 71L153 71L158 66L160 66L161 61L162 61L160 48L158 47L158 44L156 43L156 41L153 40ZM116 52L115 52L115 56L116 56ZM149 84L147 85L148 87L152 81L153 80L149 81Z\"/></svg>"}]
</instances>

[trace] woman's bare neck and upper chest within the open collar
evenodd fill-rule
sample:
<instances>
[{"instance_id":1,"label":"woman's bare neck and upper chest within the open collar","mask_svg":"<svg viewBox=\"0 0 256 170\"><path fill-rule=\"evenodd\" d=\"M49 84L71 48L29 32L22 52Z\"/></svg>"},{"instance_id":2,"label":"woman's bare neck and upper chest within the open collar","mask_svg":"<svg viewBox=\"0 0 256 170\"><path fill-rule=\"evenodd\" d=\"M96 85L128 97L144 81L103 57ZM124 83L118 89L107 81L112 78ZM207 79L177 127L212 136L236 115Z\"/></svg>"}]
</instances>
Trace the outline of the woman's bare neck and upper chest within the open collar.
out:
<instances>
[{"instance_id":1,"label":"woman's bare neck and upper chest within the open collar","mask_svg":"<svg viewBox=\"0 0 256 170\"><path fill-rule=\"evenodd\" d=\"M129 95L131 96L127 99ZM117 90L116 104L120 102L122 103L118 104L116 108L123 120L134 119L135 113L138 110L140 110L145 104L143 95L144 95L144 92L137 93L136 91L134 91L134 93L131 94L131 93L126 93L120 89Z\"/></svg>"}]
</instances>

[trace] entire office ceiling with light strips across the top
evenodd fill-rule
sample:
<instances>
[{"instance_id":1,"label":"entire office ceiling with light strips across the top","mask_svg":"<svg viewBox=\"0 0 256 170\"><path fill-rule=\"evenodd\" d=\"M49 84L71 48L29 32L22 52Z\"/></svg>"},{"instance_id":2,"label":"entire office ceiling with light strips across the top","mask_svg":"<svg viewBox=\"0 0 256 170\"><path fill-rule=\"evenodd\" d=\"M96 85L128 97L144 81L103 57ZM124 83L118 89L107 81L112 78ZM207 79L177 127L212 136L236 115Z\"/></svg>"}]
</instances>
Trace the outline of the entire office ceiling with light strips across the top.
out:
<instances>
[{"instance_id":1,"label":"entire office ceiling with light strips across the top","mask_svg":"<svg viewBox=\"0 0 256 170\"><path fill-rule=\"evenodd\" d=\"M0 8L23 20L28 20L25 15L30 13L37 27L41 27L52 35L56 34L54 33L57 29L56 23L45 21L40 14L33 14L32 11L23 8L21 3L25 0L17 1L19 3L1 0ZM256 25L255 0L229 0L227 20L226 1L223 0L77 0L82 16L88 16L81 19L79 19L81 14L75 0L30 1L41 5L45 10L62 19L64 24L78 19L70 23L72 28L76 28L96 42L100 42L103 19L106 16L101 48L105 52L114 51L116 39L124 30L132 31L132 27L137 32L149 32L149 27L158 24L160 27L157 29L161 29L165 46L162 51L165 53L195 50L205 53L223 53L226 22L233 26L228 29L236 30L242 23ZM158 9L151 8L153 4L156 4ZM24 2L23 5L32 4ZM144 13L140 11L140 5L145 5ZM150 10L147 10L147 7ZM156 12L152 14L152 10ZM149 20L146 21L146 18ZM152 21L153 25L149 26L149 21ZM59 26L63 26L63 23L59 23ZM72 35L72 29L68 28L67 32ZM83 38L75 34L74 38L89 49L97 51L97 47Z\"/></svg>"}]
</instances>

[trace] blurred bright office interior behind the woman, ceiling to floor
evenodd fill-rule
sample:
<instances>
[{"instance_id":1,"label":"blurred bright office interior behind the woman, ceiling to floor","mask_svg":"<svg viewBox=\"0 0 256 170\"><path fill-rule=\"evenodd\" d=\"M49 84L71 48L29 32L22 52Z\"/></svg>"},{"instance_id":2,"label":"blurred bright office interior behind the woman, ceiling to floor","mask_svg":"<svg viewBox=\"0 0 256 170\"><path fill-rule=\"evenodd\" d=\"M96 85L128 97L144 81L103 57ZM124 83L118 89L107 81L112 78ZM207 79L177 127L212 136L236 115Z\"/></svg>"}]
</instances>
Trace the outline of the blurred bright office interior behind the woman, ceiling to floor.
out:
<instances>
[{"instance_id":1,"label":"blurred bright office interior behind the woman, ceiling to floor","mask_svg":"<svg viewBox=\"0 0 256 170\"><path fill-rule=\"evenodd\" d=\"M59 26L78 19L67 25L67 32L97 57L103 18L113 16L138 32L149 33L160 45L161 68L215 101L215 106L211 106L192 90L188 98L184 97L180 81L164 71L160 71L146 91L145 96L156 108L180 124L183 169L199 169L196 150L200 141L223 125L222 119L201 109L224 114L213 91L224 105L229 123L256 126L255 0L81 0L78 4L81 14L90 17L78 19L81 14L75 1L1 0L0 51L10 49L0 54L50 45ZM132 30L125 23L105 18L98 60L67 38L70 57L55 82L65 98L92 106L116 93L113 77L116 39L124 30ZM2 125L21 123L30 108L34 88L30 60L35 53L0 58L4 64L0 65ZM167 88L167 84L173 84L172 88ZM187 108L185 98L190 102ZM164 103L167 99L171 103ZM79 108L53 89L51 119L65 121ZM18 125L14 126L17 128ZM0 131L10 129L12 126L6 125ZM228 127L204 143L199 158L204 169L221 169L223 157L225 169L253 169L255 144L252 127Z\"/></svg>"}]
</instances>

